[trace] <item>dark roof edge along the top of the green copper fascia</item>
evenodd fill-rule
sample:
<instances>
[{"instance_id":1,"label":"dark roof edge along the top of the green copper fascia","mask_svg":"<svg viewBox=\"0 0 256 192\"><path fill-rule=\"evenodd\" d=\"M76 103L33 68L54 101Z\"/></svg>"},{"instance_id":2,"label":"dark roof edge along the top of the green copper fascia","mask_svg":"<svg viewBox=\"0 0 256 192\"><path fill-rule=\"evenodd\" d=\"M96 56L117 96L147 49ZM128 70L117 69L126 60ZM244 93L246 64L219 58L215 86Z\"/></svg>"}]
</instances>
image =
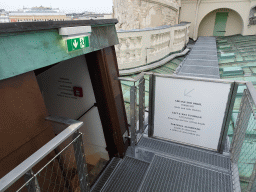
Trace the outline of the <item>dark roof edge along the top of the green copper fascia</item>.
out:
<instances>
[{"instance_id":1,"label":"dark roof edge along the top of the green copper fascia","mask_svg":"<svg viewBox=\"0 0 256 192\"><path fill-rule=\"evenodd\" d=\"M117 19L2 23L0 25L0 34L58 29L61 27L115 25L116 23L118 23Z\"/></svg>"}]
</instances>

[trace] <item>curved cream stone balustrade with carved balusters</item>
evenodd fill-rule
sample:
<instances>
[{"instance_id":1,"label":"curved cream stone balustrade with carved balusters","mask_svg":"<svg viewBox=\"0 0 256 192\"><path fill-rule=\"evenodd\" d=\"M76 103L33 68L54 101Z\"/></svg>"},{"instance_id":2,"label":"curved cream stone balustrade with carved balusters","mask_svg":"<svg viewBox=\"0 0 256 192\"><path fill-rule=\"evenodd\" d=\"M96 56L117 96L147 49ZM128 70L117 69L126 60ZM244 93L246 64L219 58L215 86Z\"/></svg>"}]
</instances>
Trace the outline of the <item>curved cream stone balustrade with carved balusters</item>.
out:
<instances>
[{"instance_id":1,"label":"curved cream stone balustrade with carved balusters","mask_svg":"<svg viewBox=\"0 0 256 192\"><path fill-rule=\"evenodd\" d=\"M148 29L117 31L118 67L130 69L161 60L172 52L180 51L189 41L190 23Z\"/></svg>"}]
</instances>

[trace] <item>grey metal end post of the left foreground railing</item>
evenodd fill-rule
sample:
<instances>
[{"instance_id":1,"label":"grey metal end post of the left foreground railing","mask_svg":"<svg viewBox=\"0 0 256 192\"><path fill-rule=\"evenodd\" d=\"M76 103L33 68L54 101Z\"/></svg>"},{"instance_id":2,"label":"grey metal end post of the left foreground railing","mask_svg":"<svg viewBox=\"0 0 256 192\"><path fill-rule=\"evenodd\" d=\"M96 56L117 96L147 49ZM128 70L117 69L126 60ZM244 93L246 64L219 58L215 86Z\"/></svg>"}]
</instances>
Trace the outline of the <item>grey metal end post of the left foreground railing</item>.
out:
<instances>
[{"instance_id":1,"label":"grey metal end post of the left foreground railing","mask_svg":"<svg viewBox=\"0 0 256 192\"><path fill-rule=\"evenodd\" d=\"M90 186L88 182L88 171L87 171L87 164L85 160L82 134L79 133L79 131L76 131L73 135L73 139L75 139L76 137L78 138L74 142L73 146L75 151L77 172L78 172L79 182L80 182L80 190L83 192L89 192Z\"/></svg>"}]
</instances>

